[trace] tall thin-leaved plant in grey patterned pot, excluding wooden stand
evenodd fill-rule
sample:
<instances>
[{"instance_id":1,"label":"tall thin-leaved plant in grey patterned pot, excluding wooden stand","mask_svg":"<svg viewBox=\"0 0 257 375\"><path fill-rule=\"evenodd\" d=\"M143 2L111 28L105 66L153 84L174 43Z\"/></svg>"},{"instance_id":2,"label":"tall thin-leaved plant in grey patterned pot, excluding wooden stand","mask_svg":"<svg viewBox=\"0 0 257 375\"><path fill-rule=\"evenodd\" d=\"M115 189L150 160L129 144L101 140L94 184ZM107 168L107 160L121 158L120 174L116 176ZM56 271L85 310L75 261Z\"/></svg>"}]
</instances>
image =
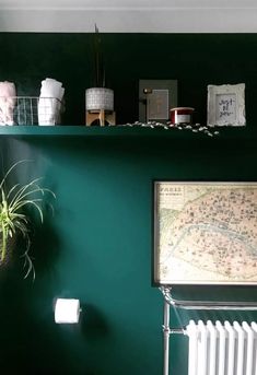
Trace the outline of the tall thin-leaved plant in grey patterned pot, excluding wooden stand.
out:
<instances>
[{"instance_id":1,"label":"tall thin-leaved plant in grey patterned pot, excluding wooden stand","mask_svg":"<svg viewBox=\"0 0 257 375\"><path fill-rule=\"evenodd\" d=\"M101 48L101 35L95 25L94 33L94 87L85 91L85 107L87 112L114 110L114 91L105 87L105 69L103 51Z\"/></svg>"}]
</instances>

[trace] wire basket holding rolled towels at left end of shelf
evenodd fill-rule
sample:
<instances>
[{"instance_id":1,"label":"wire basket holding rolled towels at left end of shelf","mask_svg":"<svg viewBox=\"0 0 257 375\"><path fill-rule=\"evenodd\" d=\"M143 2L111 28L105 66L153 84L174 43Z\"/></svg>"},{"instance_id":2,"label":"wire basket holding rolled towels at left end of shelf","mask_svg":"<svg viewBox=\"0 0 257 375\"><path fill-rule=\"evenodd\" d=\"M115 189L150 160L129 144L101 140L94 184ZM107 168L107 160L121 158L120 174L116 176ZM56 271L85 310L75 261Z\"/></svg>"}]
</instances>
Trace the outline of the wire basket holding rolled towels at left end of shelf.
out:
<instances>
[{"instance_id":1,"label":"wire basket holding rolled towels at left end of shelf","mask_svg":"<svg viewBox=\"0 0 257 375\"><path fill-rule=\"evenodd\" d=\"M62 112L56 97L0 96L0 125L60 125Z\"/></svg>"}]
</instances>

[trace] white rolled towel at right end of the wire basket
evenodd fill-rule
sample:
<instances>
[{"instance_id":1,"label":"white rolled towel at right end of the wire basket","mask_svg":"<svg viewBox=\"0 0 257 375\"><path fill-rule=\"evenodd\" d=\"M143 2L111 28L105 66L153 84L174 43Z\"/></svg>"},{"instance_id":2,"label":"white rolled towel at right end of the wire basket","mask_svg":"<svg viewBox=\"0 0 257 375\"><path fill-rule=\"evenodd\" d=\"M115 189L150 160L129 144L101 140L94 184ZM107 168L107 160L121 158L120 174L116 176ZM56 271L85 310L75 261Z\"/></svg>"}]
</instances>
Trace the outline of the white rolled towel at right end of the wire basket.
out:
<instances>
[{"instance_id":1,"label":"white rolled towel at right end of the wire basket","mask_svg":"<svg viewBox=\"0 0 257 375\"><path fill-rule=\"evenodd\" d=\"M50 78L42 81L38 99L38 125L56 125L60 121L63 95L65 89L61 82Z\"/></svg>"}]
</instances>

